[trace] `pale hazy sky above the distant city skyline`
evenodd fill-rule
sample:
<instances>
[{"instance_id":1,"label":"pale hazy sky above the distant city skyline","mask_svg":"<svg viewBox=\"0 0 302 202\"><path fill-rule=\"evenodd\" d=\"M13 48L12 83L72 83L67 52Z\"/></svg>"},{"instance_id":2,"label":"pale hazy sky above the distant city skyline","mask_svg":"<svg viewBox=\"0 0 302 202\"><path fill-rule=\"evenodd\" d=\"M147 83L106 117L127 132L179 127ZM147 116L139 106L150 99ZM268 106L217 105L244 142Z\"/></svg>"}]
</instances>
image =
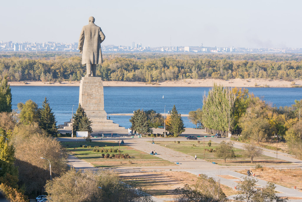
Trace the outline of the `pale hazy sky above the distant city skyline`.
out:
<instances>
[{"instance_id":1,"label":"pale hazy sky above the distant city skyline","mask_svg":"<svg viewBox=\"0 0 302 202\"><path fill-rule=\"evenodd\" d=\"M77 42L88 17L103 45L302 48L302 1L3 0L0 41Z\"/></svg>"}]
</instances>

